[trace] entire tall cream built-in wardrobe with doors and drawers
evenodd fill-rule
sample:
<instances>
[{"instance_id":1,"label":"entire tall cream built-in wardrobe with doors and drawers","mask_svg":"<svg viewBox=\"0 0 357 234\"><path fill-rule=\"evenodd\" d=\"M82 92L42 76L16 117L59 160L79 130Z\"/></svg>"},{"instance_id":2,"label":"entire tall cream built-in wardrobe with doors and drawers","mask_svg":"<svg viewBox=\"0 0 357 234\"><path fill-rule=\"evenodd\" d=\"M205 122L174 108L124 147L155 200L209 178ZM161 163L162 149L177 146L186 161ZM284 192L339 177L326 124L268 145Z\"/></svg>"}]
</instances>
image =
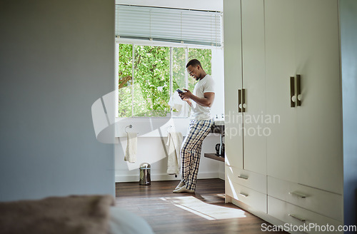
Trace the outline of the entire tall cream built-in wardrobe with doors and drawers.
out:
<instances>
[{"instance_id":1,"label":"entire tall cream built-in wardrobe with doors and drawers","mask_svg":"<svg viewBox=\"0 0 357 234\"><path fill-rule=\"evenodd\" d=\"M267 217L283 222L302 222L289 212L321 224L346 219L338 4L223 1L226 116L241 119L228 121L226 132L243 126L226 136L226 195L244 203L239 191L253 190L266 198ZM269 134L249 132L258 128ZM264 203L247 203L264 210Z\"/></svg>"}]
</instances>

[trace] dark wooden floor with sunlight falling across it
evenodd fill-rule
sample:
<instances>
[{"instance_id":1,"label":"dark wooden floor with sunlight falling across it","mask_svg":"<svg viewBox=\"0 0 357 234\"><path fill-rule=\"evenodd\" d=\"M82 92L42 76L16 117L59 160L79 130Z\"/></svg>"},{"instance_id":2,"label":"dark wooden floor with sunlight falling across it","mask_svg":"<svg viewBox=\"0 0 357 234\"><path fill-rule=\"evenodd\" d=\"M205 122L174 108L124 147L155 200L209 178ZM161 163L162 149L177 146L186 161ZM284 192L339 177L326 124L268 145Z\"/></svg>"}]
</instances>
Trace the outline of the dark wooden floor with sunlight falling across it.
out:
<instances>
[{"instance_id":1,"label":"dark wooden floor with sunlight falling across it","mask_svg":"<svg viewBox=\"0 0 357 234\"><path fill-rule=\"evenodd\" d=\"M224 180L198 180L191 194L172 193L178 182L116 183L116 205L143 217L156 234L268 233L264 220L224 203Z\"/></svg>"}]
</instances>

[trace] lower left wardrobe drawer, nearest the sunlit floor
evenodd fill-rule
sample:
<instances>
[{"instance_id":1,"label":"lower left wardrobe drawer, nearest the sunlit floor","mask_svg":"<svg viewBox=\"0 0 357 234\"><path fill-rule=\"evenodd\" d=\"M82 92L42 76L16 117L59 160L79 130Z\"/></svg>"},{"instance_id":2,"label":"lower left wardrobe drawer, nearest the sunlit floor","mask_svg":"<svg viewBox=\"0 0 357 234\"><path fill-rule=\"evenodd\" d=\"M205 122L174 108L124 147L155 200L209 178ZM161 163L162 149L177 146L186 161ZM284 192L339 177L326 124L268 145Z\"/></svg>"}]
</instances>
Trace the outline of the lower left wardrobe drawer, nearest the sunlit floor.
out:
<instances>
[{"instance_id":1,"label":"lower left wardrobe drawer, nearest the sunlit floor","mask_svg":"<svg viewBox=\"0 0 357 234\"><path fill-rule=\"evenodd\" d=\"M251 188L246 188L243 185L238 185L238 183L234 183L231 180L226 180L226 195L245 203L253 210L258 210L263 213L267 211L266 194L259 193Z\"/></svg>"}]
</instances>

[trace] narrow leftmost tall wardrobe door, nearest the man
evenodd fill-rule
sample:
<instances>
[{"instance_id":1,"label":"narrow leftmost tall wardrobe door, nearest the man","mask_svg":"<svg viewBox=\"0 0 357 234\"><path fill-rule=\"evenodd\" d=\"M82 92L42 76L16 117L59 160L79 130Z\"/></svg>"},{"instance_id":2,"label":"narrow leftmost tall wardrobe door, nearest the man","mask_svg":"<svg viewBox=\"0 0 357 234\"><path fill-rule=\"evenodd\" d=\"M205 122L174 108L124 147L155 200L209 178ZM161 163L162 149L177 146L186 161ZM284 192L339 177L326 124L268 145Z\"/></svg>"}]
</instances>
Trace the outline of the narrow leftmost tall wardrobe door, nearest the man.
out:
<instances>
[{"instance_id":1,"label":"narrow leftmost tall wardrobe door, nearest the man","mask_svg":"<svg viewBox=\"0 0 357 234\"><path fill-rule=\"evenodd\" d=\"M242 114L238 113L238 89L242 88L241 1L223 1L224 103L226 164L243 168Z\"/></svg>"}]
</instances>

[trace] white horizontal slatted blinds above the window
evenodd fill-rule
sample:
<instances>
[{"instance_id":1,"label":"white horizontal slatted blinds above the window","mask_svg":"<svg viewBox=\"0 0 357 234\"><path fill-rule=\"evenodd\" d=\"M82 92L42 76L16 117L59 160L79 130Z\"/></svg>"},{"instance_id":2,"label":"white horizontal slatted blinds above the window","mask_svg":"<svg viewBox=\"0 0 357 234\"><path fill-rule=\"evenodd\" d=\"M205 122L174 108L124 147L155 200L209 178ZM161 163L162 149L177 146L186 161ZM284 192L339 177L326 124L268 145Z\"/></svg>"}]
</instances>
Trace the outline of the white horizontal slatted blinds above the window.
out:
<instances>
[{"instance_id":1,"label":"white horizontal slatted blinds above the window","mask_svg":"<svg viewBox=\"0 0 357 234\"><path fill-rule=\"evenodd\" d=\"M116 5L116 36L221 46L220 12Z\"/></svg>"}]
</instances>

